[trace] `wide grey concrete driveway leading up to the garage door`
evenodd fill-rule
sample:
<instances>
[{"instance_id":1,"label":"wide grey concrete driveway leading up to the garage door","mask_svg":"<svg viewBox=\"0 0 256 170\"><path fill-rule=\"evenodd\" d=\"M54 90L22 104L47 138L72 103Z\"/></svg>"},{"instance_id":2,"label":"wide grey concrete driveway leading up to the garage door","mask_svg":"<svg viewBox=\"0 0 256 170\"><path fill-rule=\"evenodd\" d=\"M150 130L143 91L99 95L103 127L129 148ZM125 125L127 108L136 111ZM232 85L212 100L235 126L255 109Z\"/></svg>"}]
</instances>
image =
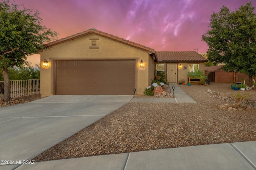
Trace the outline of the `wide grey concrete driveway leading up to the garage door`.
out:
<instances>
[{"instance_id":1,"label":"wide grey concrete driveway leading up to the garage door","mask_svg":"<svg viewBox=\"0 0 256 170\"><path fill-rule=\"evenodd\" d=\"M0 108L0 160L30 160L122 107L132 95L55 95ZM12 169L18 165L2 165Z\"/></svg>"}]
</instances>

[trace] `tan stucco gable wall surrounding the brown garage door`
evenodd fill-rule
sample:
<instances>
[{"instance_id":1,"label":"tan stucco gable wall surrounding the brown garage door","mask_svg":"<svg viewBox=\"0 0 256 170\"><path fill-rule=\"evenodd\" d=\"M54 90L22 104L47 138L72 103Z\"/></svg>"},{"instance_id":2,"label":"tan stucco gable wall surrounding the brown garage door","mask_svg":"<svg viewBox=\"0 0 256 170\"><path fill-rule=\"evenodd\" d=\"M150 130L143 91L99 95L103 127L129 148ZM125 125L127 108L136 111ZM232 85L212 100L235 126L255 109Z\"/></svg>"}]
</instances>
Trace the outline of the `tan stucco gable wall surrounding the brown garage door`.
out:
<instances>
[{"instance_id":1,"label":"tan stucco gable wall surrounding the brown garage door","mask_svg":"<svg viewBox=\"0 0 256 170\"><path fill-rule=\"evenodd\" d=\"M99 49L89 49L91 46L91 40L89 38L99 38L99 40L97 40ZM42 66L44 59L49 61L48 67ZM54 45L52 48L41 53L42 96L50 96L54 94L54 61L58 59L135 59L137 62L135 80L136 94L143 94L144 88L148 86L149 78L152 76L152 72L154 72L150 70L152 69L152 61L150 61L147 51L131 47L100 35L89 34ZM144 62L145 70L139 70L141 60Z\"/></svg>"}]
</instances>

